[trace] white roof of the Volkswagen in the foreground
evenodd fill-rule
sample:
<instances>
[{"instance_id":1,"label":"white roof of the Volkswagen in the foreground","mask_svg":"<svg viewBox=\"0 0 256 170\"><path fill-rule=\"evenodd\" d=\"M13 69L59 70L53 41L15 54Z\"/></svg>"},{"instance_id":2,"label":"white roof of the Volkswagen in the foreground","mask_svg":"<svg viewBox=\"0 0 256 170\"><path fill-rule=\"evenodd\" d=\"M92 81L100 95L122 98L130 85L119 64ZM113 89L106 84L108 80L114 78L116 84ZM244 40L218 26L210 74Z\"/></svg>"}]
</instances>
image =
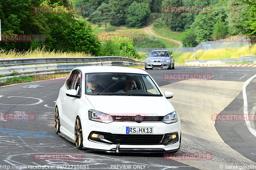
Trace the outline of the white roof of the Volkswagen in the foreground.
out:
<instances>
[{"instance_id":1,"label":"white roof of the Volkswagen in the foreground","mask_svg":"<svg viewBox=\"0 0 256 170\"><path fill-rule=\"evenodd\" d=\"M146 71L136 68L130 67L120 67L120 66L83 66L76 67L75 69L79 69L82 73L137 73L137 74L148 74ZM75 70L73 69L73 70Z\"/></svg>"}]
</instances>

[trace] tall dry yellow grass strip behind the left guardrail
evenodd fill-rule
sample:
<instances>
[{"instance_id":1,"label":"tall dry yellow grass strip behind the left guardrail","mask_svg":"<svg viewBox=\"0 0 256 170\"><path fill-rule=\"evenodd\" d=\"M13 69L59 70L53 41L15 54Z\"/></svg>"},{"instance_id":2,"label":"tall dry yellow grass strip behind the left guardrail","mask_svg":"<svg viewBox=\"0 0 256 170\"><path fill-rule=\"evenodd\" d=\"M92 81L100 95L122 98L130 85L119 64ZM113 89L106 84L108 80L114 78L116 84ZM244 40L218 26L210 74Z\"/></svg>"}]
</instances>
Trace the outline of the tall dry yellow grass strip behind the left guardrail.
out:
<instances>
[{"instance_id":1,"label":"tall dry yellow grass strip behind the left guardrail","mask_svg":"<svg viewBox=\"0 0 256 170\"><path fill-rule=\"evenodd\" d=\"M35 50L28 51L0 50L0 58L31 58L31 57L92 57L91 54L84 52L63 52L60 50L46 50L44 47L38 47Z\"/></svg>"}]
</instances>

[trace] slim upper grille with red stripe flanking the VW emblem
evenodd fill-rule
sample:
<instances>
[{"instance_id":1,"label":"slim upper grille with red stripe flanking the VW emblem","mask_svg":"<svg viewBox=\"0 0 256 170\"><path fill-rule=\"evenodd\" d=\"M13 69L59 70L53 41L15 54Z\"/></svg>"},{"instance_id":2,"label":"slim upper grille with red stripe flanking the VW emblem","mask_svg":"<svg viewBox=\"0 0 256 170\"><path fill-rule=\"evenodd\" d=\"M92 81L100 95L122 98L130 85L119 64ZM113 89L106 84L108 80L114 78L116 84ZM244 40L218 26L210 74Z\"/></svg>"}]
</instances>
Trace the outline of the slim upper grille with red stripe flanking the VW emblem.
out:
<instances>
[{"instance_id":1,"label":"slim upper grille with red stripe flanking the VW emblem","mask_svg":"<svg viewBox=\"0 0 256 170\"><path fill-rule=\"evenodd\" d=\"M135 122L135 116L112 115L112 118L115 122ZM142 122L162 122L163 118L164 116L142 116Z\"/></svg>"}]
</instances>

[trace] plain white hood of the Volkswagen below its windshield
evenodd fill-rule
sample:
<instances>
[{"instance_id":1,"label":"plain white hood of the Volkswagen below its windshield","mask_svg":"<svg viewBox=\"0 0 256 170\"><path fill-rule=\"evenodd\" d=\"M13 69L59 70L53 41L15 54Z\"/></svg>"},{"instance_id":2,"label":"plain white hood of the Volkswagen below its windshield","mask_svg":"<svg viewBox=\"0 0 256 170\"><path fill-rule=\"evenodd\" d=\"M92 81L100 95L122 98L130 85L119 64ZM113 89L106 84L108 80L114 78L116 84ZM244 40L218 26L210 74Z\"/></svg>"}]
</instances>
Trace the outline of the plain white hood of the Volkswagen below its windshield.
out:
<instances>
[{"instance_id":1,"label":"plain white hood of the Volkswagen below its windshield","mask_svg":"<svg viewBox=\"0 0 256 170\"><path fill-rule=\"evenodd\" d=\"M165 116L174 111L165 97L86 95L94 110L109 114Z\"/></svg>"}]
</instances>

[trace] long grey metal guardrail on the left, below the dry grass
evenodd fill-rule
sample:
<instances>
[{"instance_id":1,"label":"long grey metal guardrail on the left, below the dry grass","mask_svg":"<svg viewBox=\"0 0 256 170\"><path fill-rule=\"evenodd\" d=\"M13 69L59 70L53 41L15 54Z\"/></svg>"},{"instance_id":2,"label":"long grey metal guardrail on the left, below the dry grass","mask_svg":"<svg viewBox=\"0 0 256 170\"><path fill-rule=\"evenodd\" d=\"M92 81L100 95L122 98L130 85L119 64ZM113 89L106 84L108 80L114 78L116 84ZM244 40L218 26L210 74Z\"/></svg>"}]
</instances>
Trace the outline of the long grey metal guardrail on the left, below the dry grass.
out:
<instances>
[{"instance_id":1,"label":"long grey metal guardrail on the left, below the dry grass","mask_svg":"<svg viewBox=\"0 0 256 170\"><path fill-rule=\"evenodd\" d=\"M45 71L68 70L67 72L69 72L75 67L101 65L101 63L110 66L144 65L142 61L119 56L11 58L0 59L0 67L2 67L0 74L9 76Z\"/></svg>"}]
</instances>

